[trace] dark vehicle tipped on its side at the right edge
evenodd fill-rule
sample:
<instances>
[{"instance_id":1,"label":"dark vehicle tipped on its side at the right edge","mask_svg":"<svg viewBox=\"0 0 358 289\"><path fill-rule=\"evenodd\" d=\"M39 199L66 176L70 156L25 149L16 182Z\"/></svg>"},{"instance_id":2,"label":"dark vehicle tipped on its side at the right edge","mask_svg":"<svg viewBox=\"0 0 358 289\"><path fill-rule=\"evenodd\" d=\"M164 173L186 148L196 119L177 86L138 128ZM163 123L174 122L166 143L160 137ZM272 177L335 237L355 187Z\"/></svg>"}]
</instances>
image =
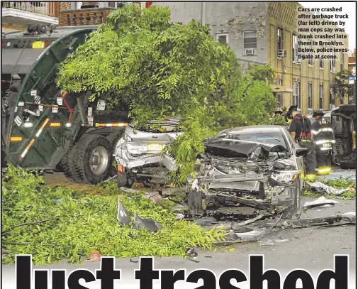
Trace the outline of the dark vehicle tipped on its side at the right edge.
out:
<instances>
[{"instance_id":1,"label":"dark vehicle tipped on its side at the right edge","mask_svg":"<svg viewBox=\"0 0 358 289\"><path fill-rule=\"evenodd\" d=\"M334 163L342 169L357 168L357 105L342 104L332 110L331 124L335 136Z\"/></svg>"}]
</instances>

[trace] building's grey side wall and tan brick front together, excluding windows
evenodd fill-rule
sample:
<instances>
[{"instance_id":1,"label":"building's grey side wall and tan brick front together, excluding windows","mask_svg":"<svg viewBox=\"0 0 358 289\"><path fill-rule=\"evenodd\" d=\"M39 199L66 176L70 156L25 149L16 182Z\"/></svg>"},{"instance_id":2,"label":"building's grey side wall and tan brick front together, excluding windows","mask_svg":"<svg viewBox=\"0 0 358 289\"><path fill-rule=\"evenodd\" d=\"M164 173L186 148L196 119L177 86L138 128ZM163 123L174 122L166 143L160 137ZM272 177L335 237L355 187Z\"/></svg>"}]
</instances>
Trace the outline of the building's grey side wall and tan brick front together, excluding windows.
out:
<instances>
[{"instance_id":1,"label":"building's grey side wall and tan brick front together, excluding windows","mask_svg":"<svg viewBox=\"0 0 358 289\"><path fill-rule=\"evenodd\" d=\"M294 82L298 83L300 107L303 114L312 109L330 108L330 91L335 75L341 70L342 55L337 53L335 72L330 72L330 60L324 60L323 69L319 60L313 59L293 62L293 35L298 35L298 2L154 2L154 5L169 6L172 21L189 23L194 18L206 23L216 39L217 33L228 33L228 43L241 63L269 63L276 75L274 93L281 94L282 105L289 107L294 103ZM301 13L301 12L300 12ZM332 26L329 26L332 28ZM333 26L334 27L334 26ZM278 58L277 28L283 30L284 58ZM243 55L242 31L257 31L257 50L255 55ZM342 48L348 48L348 38ZM343 69L348 68L348 54L343 55ZM279 80L283 78L283 80ZM308 84L312 84L312 107L308 105ZM320 85L323 85L323 107L320 107ZM275 92L276 91L276 92ZM347 102L347 99L345 99ZM335 98L335 105L340 99Z\"/></svg>"}]
</instances>

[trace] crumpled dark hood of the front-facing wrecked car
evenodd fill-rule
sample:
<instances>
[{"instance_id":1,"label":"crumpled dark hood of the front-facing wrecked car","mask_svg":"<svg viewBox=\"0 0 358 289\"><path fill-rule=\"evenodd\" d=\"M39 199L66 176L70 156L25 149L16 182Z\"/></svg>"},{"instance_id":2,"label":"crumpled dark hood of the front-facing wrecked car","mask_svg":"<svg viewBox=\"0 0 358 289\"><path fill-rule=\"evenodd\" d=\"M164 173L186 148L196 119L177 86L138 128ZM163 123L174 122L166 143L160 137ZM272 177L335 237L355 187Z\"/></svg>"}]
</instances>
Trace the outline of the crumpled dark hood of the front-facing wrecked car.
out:
<instances>
[{"instance_id":1,"label":"crumpled dark hood of the front-facing wrecked car","mask_svg":"<svg viewBox=\"0 0 358 289\"><path fill-rule=\"evenodd\" d=\"M271 143L240 141L228 138L206 138L206 154L224 158L246 158L247 160L265 160L269 153L287 153L284 146Z\"/></svg>"}]
</instances>

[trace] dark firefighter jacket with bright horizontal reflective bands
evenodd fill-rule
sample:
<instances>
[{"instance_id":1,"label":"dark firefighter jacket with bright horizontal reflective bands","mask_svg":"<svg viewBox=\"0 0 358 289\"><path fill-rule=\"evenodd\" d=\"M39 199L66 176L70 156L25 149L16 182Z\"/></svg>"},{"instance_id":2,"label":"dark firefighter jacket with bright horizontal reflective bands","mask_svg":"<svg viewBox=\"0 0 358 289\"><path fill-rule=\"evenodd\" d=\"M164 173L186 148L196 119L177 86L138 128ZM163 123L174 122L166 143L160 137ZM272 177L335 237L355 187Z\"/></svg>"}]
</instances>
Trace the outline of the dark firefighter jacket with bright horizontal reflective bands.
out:
<instances>
[{"instance_id":1,"label":"dark firefighter jacket with bright horizontal reflective bands","mask_svg":"<svg viewBox=\"0 0 358 289\"><path fill-rule=\"evenodd\" d=\"M333 136L332 126L330 123L322 117L316 120L312 126L312 135L315 145L317 145L321 151L331 151L332 144L335 143Z\"/></svg>"}]
</instances>

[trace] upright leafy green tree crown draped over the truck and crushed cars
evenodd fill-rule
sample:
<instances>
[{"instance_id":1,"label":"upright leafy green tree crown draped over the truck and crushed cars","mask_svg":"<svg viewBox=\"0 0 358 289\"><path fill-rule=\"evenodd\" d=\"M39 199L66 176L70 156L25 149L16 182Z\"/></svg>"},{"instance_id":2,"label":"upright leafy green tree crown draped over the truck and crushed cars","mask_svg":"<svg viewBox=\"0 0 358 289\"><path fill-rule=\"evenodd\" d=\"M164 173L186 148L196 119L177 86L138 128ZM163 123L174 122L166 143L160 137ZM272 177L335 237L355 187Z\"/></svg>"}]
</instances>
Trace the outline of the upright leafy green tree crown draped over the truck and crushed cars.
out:
<instances>
[{"instance_id":1,"label":"upright leafy green tree crown draped over the truck and crushed cars","mask_svg":"<svg viewBox=\"0 0 358 289\"><path fill-rule=\"evenodd\" d=\"M179 165L177 183L192 172L203 138L233 126L260 124L274 111L269 66L242 74L228 45L213 40L198 21L170 23L168 8L113 11L98 31L60 67L58 85L90 89L109 108L122 102L133 122L181 116L184 135L169 147Z\"/></svg>"}]
</instances>

